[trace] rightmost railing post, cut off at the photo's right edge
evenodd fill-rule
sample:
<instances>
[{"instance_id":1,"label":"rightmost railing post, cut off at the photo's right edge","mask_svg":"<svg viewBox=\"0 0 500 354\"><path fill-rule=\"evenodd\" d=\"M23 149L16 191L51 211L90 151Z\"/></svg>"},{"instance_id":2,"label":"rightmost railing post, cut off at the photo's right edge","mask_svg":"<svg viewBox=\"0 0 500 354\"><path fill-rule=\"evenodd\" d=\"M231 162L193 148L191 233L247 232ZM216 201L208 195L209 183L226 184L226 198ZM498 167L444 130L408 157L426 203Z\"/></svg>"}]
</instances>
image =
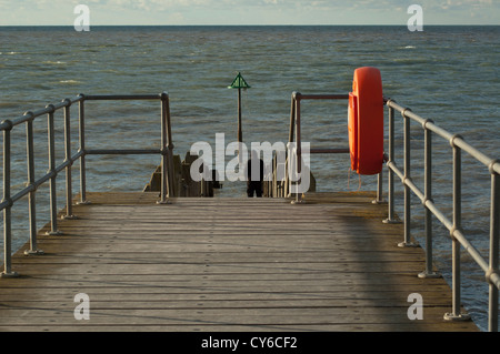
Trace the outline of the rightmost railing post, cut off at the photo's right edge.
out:
<instances>
[{"instance_id":1,"label":"rightmost railing post, cut off at the photo's right edge","mask_svg":"<svg viewBox=\"0 0 500 354\"><path fill-rule=\"evenodd\" d=\"M489 282L489 311L488 330L498 332L498 287L491 282L491 276L499 271L499 243L500 243L500 176L493 171L493 160L490 164L491 173L491 208L490 208L490 264L487 274Z\"/></svg>"}]
</instances>

